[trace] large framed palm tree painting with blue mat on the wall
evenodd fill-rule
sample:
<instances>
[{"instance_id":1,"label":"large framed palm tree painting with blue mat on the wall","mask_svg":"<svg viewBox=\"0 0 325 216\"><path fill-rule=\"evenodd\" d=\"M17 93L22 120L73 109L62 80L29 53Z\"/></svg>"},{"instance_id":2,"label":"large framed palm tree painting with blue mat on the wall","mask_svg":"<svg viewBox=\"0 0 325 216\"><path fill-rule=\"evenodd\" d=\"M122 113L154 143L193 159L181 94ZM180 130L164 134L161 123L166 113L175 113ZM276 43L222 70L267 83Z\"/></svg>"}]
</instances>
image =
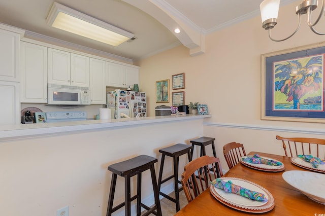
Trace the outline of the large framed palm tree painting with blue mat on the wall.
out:
<instances>
[{"instance_id":1,"label":"large framed palm tree painting with blue mat on the wall","mask_svg":"<svg viewBox=\"0 0 325 216\"><path fill-rule=\"evenodd\" d=\"M263 120L325 122L325 44L262 55Z\"/></svg>"}]
</instances>

